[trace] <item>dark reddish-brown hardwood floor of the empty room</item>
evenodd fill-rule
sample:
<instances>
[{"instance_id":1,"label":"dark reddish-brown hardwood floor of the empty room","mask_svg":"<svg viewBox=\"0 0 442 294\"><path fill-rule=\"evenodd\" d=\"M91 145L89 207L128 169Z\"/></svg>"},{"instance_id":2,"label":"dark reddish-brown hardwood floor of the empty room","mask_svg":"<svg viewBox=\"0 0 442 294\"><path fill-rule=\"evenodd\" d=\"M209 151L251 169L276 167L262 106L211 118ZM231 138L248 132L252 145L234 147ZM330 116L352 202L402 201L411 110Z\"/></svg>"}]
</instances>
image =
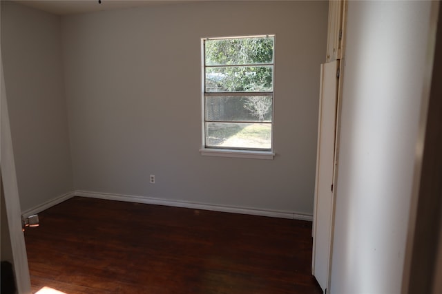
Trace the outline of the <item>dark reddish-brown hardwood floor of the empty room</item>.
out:
<instances>
[{"instance_id":1,"label":"dark reddish-brown hardwood floor of the empty room","mask_svg":"<svg viewBox=\"0 0 442 294\"><path fill-rule=\"evenodd\" d=\"M25 233L32 291L322 293L311 222L75 197Z\"/></svg>"}]
</instances>

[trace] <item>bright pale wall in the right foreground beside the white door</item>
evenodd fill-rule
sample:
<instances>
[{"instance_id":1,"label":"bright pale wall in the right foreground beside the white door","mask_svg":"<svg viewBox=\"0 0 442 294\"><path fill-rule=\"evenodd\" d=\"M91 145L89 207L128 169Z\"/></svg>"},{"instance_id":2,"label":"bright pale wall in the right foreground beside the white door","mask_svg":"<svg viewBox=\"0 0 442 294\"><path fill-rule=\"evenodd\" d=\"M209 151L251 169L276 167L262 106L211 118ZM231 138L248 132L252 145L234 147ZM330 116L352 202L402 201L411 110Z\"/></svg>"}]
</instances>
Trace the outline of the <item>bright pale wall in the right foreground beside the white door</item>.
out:
<instances>
[{"instance_id":1,"label":"bright pale wall in the right foreground beside the white door","mask_svg":"<svg viewBox=\"0 0 442 294\"><path fill-rule=\"evenodd\" d=\"M431 5L348 3L329 293L401 293Z\"/></svg>"}]
</instances>

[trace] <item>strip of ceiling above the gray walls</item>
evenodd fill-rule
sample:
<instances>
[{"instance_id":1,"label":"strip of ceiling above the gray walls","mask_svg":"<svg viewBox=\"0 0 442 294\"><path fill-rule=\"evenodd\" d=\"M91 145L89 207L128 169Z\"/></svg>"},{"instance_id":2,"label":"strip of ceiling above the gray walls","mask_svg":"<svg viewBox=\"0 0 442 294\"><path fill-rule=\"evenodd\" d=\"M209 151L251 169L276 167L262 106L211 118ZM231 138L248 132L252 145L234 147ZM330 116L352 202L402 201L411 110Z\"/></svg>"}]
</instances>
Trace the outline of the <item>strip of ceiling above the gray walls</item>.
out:
<instances>
[{"instance_id":1,"label":"strip of ceiling above the gray walls","mask_svg":"<svg viewBox=\"0 0 442 294\"><path fill-rule=\"evenodd\" d=\"M189 3L207 0L15 0L23 5L44 10L53 14L77 14L102 10L117 10L172 3Z\"/></svg>"}]
</instances>

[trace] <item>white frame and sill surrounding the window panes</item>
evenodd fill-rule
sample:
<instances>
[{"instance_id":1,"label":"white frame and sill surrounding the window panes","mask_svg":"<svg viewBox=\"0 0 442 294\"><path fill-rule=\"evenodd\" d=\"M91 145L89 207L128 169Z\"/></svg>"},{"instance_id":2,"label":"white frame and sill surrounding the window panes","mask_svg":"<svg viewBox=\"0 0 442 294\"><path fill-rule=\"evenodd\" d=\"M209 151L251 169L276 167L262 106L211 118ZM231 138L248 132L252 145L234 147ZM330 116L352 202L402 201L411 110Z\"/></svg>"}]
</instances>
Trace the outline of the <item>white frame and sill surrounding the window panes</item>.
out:
<instances>
[{"instance_id":1,"label":"white frame and sill surrounding the window panes","mask_svg":"<svg viewBox=\"0 0 442 294\"><path fill-rule=\"evenodd\" d=\"M273 71L272 71L272 85L273 91L272 95L272 107L271 107L271 148L269 150L262 149L236 149L229 147L206 147L206 114L205 114L205 101L204 96L205 86L206 86L206 76L205 76L205 51L204 51L204 41L206 40L216 40L216 39L241 39L241 38L259 38L265 36L273 36ZM222 36L215 38L202 38L201 39L201 112L202 112L202 148L200 149L200 154L202 156L220 156L220 157L231 157L231 158L255 158L255 159L273 159L276 155L273 151L273 132L274 132L274 112L275 112L275 48L276 48L276 35L275 34L261 34L261 35L250 35L250 36ZM239 65L242 66L242 65ZM244 65L247 66L247 65ZM253 92L245 92L245 93L253 93ZM270 92L269 92L270 93ZM215 94L215 93L214 93ZM229 96L229 94L240 95L244 94L243 92L220 92L216 94L225 94ZM233 96L232 95L232 96Z\"/></svg>"}]
</instances>

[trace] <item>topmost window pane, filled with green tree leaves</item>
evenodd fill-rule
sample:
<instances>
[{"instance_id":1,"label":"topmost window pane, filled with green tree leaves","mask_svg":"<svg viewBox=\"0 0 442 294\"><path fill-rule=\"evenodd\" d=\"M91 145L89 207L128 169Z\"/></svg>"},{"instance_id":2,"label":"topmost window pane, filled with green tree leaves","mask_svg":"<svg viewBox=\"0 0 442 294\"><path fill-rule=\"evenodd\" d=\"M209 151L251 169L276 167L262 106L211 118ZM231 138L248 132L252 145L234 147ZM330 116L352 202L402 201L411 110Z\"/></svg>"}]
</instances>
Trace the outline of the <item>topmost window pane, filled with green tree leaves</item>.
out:
<instances>
[{"instance_id":1,"label":"topmost window pane, filled with green tree leaves","mask_svg":"<svg viewBox=\"0 0 442 294\"><path fill-rule=\"evenodd\" d=\"M205 41L206 65L273 63L274 36Z\"/></svg>"}]
</instances>

